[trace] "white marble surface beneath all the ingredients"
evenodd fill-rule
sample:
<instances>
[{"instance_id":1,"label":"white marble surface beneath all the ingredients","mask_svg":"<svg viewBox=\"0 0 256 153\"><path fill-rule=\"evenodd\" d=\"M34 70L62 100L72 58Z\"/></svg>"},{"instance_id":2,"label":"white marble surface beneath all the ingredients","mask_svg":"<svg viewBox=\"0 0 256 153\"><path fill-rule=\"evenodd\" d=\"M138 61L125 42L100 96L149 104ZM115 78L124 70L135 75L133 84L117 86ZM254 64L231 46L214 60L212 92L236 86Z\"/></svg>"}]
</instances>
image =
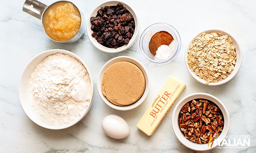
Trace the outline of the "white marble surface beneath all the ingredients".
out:
<instances>
[{"instance_id":1,"label":"white marble surface beneath all the ingredients","mask_svg":"<svg viewBox=\"0 0 256 153\"><path fill-rule=\"evenodd\" d=\"M230 114L230 135L249 134L251 148L213 149L211 152L256 152L256 2L251 1L164 1L126 0L140 19L139 36L135 44L121 53L108 54L97 50L87 34L73 44L49 40L39 19L22 12L25 0L3 0L0 5L0 152L191 152L183 146L172 130L172 111L184 96L205 92L218 97ZM53 1L43 0L45 4ZM73 0L86 19L101 0ZM144 59L139 49L143 30L156 22L174 26L182 39L182 47L174 61L155 65ZM198 83L186 70L184 51L198 32L223 29L241 45L243 63L230 82L209 87ZM92 72L94 99L89 113L78 124L64 130L48 130L33 123L19 103L18 84L22 71L32 57L48 49L66 49L80 56ZM140 60L151 77L151 88L144 103L130 111L108 107L97 93L97 75L101 67L116 56L131 56ZM169 75L186 83L187 87L170 109L153 136L149 137L135 125ZM101 128L102 119L116 114L130 126L127 138L109 138Z\"/></svg>"}]
</instances>

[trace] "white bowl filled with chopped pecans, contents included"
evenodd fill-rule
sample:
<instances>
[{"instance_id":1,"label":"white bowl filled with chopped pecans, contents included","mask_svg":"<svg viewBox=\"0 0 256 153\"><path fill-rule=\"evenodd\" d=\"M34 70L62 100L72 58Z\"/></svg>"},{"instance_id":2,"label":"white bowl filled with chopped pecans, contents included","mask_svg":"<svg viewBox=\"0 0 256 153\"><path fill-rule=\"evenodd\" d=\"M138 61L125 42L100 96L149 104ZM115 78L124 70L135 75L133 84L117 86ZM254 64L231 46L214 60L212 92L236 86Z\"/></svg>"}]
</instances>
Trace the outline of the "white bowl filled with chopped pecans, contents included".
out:
<instances>
[{"instance_id":1,"label":"white bowl filled with chopped pecans, contents included","mask_svg":"<svg viewBox=\"0 0 256 153\"><path fill-rule=\"evenodd\" d=\"M173 110L172 127L178 140L196 151L218 146L229 131L229 114L224 104L206 93L184 97Z\"/></svg>"}]
</instances>

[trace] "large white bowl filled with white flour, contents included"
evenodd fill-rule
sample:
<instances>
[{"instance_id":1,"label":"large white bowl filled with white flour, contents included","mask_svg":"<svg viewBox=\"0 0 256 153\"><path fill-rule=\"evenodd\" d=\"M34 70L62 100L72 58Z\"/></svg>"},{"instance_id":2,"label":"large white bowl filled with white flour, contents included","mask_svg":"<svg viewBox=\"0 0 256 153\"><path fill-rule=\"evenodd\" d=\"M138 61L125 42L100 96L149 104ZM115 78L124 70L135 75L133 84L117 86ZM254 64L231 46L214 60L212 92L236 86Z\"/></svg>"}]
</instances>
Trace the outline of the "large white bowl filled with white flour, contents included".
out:
<instances>
[{"instance_id":1,"label":"large white bowl filled with white flour, contents included","mask_svg":"<svg viewBox=\"0 0 256 153\"><path fill-rule=\"evenodd\" d=\"M35 56L19 82L19 99L27 116L48 129L64 129L89 111L93 82L76 54L52 49Z\"/></svg>"}]
</instances>

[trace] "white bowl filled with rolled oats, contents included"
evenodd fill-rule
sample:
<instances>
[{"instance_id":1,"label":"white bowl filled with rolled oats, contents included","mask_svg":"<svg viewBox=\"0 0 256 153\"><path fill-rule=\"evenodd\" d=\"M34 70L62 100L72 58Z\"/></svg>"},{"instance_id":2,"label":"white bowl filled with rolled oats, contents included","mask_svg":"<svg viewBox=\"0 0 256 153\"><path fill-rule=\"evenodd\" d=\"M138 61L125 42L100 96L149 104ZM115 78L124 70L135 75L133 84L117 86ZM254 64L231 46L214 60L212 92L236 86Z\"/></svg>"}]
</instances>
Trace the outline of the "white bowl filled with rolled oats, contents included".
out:
<instances>
[{"instance_id":1,"label":"white bowl filled with rolled oats, contents included","mask_svg":"<svg viewBox=\"0 0 256 153\"><path fill-rule=\"evenodd\" d=\"M200 32L185 52L187 70L200 83L217 86L230 81L242 64L237 41L223 30Z\"/></svg>"}]
</instances>

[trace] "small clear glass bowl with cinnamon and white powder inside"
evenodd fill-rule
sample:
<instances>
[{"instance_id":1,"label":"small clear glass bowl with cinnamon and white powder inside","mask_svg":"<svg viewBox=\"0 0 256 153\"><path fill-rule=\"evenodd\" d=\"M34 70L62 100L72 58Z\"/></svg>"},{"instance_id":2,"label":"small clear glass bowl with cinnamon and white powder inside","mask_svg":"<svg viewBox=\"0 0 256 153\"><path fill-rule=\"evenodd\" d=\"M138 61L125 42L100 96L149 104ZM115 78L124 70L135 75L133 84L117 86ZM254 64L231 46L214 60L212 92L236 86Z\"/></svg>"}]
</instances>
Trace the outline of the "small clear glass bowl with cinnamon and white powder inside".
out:
<instances>
[{"instance_id":1,"label":"small clear glass bowl with cinnamon and white powder inside","mask_svg":"<svg viewBox=\"0 0 256 153\"><path fill-rule=\"evenodd\" d=\"M155 23L140 38L142 55L155 64L169 63L179 54L181 39L177 30L166 23Z\"/></svg>"}]
</instances>

